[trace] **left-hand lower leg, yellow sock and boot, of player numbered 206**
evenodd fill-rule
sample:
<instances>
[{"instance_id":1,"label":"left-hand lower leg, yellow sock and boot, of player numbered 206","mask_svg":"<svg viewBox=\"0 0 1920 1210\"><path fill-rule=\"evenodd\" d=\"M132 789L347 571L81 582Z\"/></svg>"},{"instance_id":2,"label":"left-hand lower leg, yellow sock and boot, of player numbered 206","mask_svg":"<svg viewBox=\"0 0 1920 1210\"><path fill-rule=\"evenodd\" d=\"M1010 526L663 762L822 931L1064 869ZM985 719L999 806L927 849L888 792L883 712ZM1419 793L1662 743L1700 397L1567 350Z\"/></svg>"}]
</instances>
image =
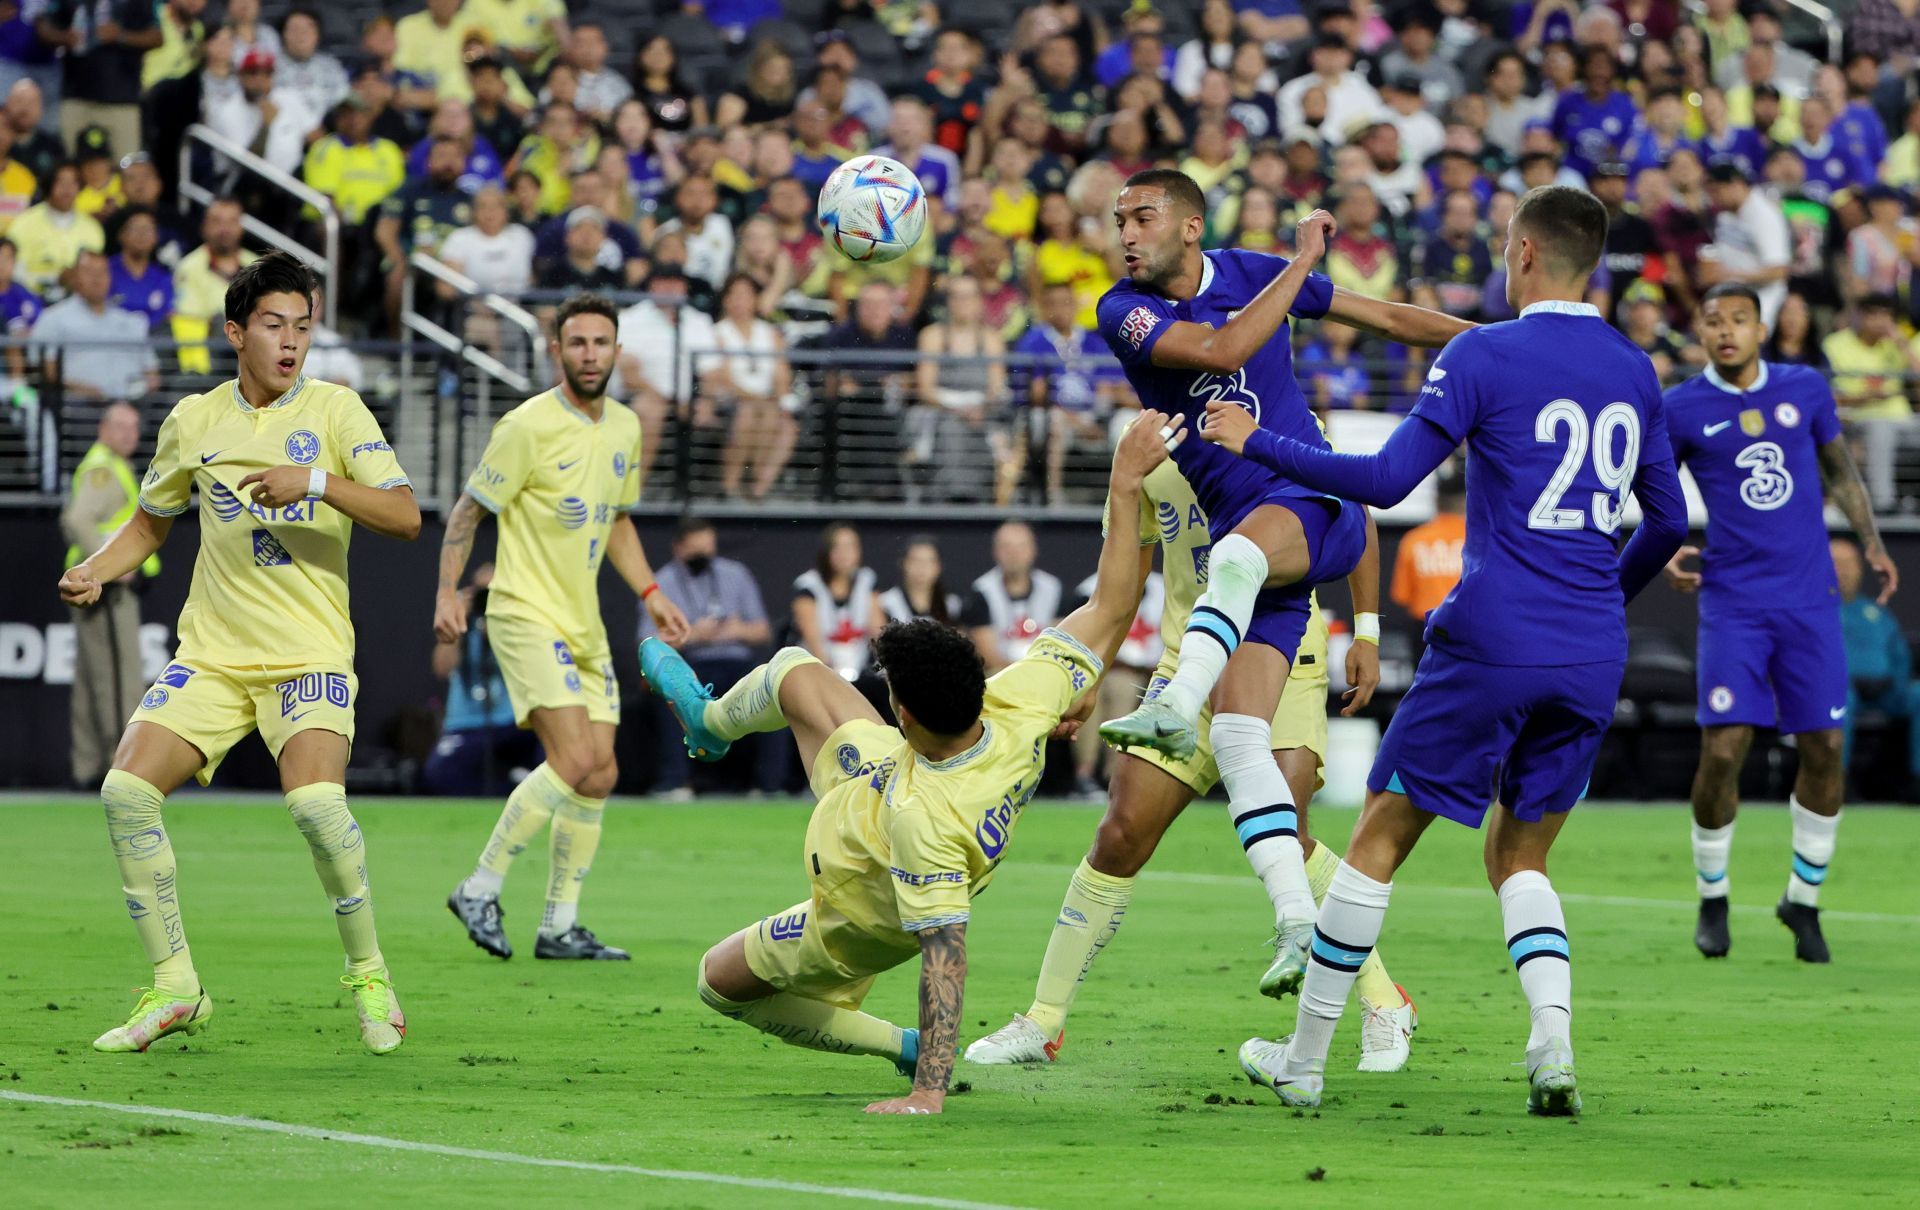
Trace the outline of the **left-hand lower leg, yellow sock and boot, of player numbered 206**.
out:
<instances>
[{"instance_id":1,"label":"left-hand lower leg, yellow sock and boot, of player numbered 206","mask_svg":"<svg viewBox=\"0 0 1920 1210\"><path fill-rule=\"evenodd\" d=\"M121 893L140 947L154 964L154 985L142 989L125 1024L94 1039L94 1051L146 1051L169 1033L200 1033L213 1018L213 1001L194 972L180 922L173 841L161 822L163 801L150 782L117 766L100 786Z\"/></svg>"}]
</instances>

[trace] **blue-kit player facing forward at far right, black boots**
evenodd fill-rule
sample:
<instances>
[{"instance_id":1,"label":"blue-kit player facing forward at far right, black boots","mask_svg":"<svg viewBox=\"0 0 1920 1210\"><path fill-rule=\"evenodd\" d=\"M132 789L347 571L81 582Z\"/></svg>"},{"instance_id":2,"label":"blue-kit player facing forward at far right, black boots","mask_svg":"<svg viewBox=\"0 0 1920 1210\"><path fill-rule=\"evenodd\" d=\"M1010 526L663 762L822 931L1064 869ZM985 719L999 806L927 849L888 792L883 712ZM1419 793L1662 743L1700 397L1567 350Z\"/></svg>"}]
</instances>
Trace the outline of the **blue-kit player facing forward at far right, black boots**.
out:
<instances>
[{"instance_id":1,"label":"blue-kit player facing forward at far right, black boots","mask_svg":"<svg viewBox=\"0 0 1920 1210\"><path fill-rule=\"evenodd\" d=\"M1788 805L1793 866L1774 914L1793 930L1803 962L1826 962L1820 883L1834 859L1847 782L1847 649L1820 486L1880 572L1882 605L1899 588L1899 570L1880 542L1826 376L1761 361L1766 325L1753 288L1728 282L1709 290L1699 338L1711 361L1707 373L1667 392L1674 457L1693 471L1707 501L1701 569L1686 569L1701 553L1692 545L1667 565L1668 584L1699 592L1693 945L1709 958L1724 958L1732 945L1726 860L1740 811L1740 768L1753 728L1776 726L1795 738L1799 776Z\"/></svg>"}]
</instances>

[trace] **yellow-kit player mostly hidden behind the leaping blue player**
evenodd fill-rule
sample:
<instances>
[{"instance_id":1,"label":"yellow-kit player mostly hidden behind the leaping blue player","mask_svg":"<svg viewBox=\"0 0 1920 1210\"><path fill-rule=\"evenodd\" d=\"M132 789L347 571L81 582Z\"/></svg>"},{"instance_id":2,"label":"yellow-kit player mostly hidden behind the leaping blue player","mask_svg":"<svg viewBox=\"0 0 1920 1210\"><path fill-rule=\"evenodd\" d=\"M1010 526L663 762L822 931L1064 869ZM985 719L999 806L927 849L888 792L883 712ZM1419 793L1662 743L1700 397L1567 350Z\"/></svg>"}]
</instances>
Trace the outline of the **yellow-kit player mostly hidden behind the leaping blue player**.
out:
<instances>
[{"instance_id":1,"label":"yellow-kit player mostly hidden behind the leaping blue player","mask_svg":"<svg viewBox=\"0 0 1920 1210\"><path fill-rule=\"evenodd\" d=\"M1160 617L1165 655L1148 684L1148 695L1167 682L1179 663L1181 634L1194 601L1206 592L1206 565L1212 538L1206 513L1192 488L1173 463L1154 469L1140 494L1142 561L1152 561L1152 545L1162 549L1162 574L1167 584L1167 603ZM1371 519L1367 551L1348 578L1354 611L1361 618L1379 609L1380 555ZM1375 620L1377 626L1377 620ZM1363 632L1365 634L1365 632ZM1379 630L1373 630L1377 636ZM1365 638L1348 649L1348 705L1352 714L1367 705L1380 680L1379 649ZM1308 880L1313 897L1321 899L1340 866L1340 855L1308 839L1308 801L1321 786L1319 770L1327 761L1327 618L1315 601L1300 653L1294 659L1281 705L1273 713L1273 759L1292 787L1298 803L1298 834L1306 845ZM1110 805L1094 832L1092 847L1068 882L1066 903L1054 920L1041 978L1033 989L1033 1004L1016 1012L1014 1020L981 1037L966 1051L968 1062L1023 1064L1050 1062L1060 1054L1066 1037L1068 1012L1079 985L1087 980L1100 951L1119 930L1133 899L1133 880L1154 855L1160 837L1190 801L1219 782L1212 747L1206 741L1206 718L1200 726L1200 749L1188 759L1175 759L1152 749L1116 753ZM1263 866L1265 843L1260 818L1236 826L1248 860L1269 882ZM1279 903L1275 903L1279 914ZM1273 995L1271 974L1261 980L1261 993ZM1388 978L1375 953L1361 970L1361 1060L1363 1072L1398 1072L1407 1062L1409 1039L1417 1022L1413 1004Z\"/></svg>"}]
</instances>

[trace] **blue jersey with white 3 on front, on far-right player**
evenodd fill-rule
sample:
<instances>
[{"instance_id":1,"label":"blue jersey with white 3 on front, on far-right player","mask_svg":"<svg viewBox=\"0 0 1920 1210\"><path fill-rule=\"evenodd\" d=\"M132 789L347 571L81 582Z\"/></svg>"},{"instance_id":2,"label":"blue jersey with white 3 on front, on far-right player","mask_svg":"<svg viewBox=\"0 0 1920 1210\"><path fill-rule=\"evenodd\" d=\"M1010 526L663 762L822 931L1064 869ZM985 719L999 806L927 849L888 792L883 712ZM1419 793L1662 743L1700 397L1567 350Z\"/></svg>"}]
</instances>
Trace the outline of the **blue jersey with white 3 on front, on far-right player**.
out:
<instances>
[{"instance_id":1,"label":"blue jersey with white 3 on front, on far-right player","mask_svg":"<svg viewBox=\"0 0 1920 1210\"><path fill-rule=\"evenodd\" d=\"M1711 367L1667 392L1674 457L1707 501L1699 605L1834 605L1820 446L1839 409L1820 371L1761 363L1738 390Z\"/></svg>"}]
</instances>

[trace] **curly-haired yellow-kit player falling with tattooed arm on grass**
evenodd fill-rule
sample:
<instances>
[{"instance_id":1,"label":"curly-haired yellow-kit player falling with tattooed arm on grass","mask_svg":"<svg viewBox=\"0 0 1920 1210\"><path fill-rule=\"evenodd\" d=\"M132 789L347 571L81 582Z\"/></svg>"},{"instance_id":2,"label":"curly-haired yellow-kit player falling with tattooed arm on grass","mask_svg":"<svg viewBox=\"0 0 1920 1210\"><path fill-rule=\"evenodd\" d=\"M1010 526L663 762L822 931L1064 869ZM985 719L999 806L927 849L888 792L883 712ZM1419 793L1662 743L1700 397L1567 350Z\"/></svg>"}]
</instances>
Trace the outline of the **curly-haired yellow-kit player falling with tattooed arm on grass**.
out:
<instances>
[{"instance_id":1,"label":"curly-haired yellow-kit player falling with tattooed arm on grass","mask_svg":"<svg viewBox=\"0 0 1920 1210\"><path fill-rule=\"evenodd\" d=\"M877 1054L914 1077L868 1112L937 1114L947 1099L966 985L973 897L1006 859L1039 787L1046 739L1069 734L1075 701L1119 649L1144 578L1135 497L1177 446L1181 421L1142 413L1114 453L1119 520L1100 549L1092 597L991 680L972 640L931 618L874 640L899 728L833 668L785 647L718 701L672 647L641 643L641 674L716 759L755 732L793 728L820 795L806 828L812 893L720 941L701 960L712 1010L812 1051ZM1123 507L1121 507L1123 505ZM920 1026L860 1012L874 978L920 955Z\"/></svg>"}]
</instances>

